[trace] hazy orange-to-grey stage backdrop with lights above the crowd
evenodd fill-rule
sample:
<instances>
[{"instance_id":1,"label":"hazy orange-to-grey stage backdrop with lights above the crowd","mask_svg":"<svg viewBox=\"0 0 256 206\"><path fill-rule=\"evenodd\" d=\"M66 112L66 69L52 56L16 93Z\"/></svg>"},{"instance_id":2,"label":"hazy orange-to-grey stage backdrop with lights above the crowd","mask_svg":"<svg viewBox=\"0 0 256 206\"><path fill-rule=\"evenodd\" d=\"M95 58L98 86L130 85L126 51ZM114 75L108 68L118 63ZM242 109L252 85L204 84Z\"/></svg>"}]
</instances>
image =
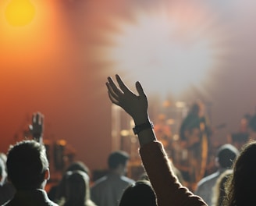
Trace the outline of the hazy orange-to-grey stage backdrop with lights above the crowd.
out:
<instances>
[{"instance_id":1,"label":"hazy orange-to-grey stage backdrop with lights above the crowd","mask_svg":"<svg viewBox=\"0 0 256 206\"><path fill-rule=\"evenodd\" d=\"M244 114L255 112L255 5L2 0L0 151L23 140L39 111L48 147L57 143L71 161L105 169L109 152L123 149L120 138L130 135L120 132L132 127L108 101L105 81L116 73L133 89L140 80L151 119L165 113L173 130L187 106L201 99L212 126L226 125L212 144L226 142ZM137 147L129 149L137 155Z\"/></svg>"}]
</instances>

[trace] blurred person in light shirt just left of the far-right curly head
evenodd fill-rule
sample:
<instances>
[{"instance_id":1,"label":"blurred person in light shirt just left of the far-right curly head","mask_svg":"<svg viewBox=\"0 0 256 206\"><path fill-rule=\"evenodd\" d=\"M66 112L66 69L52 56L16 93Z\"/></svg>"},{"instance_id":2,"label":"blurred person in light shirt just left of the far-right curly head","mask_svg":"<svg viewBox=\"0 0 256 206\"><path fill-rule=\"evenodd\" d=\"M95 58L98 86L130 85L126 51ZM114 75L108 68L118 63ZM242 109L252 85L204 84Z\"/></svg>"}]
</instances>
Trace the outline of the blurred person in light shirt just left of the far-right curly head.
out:
<instances>
[{"instance_id":1,"label":"blurred person in light shirt just left of the far-right curly head","mask_svg":"<svg viewBox=\"0 0 256 206\"><path fill-rule=\"evenodd\" d=\"M218 166L218 171L212 173L212 175L205 176L199 183L197 183L197 190L195 194L199 195L204 199L208 206L212 205L212 189L222 172L230 169L239 151L231 144L224 144L219 147L216 156L216 165Z\"/></svg>"}]
</instances>

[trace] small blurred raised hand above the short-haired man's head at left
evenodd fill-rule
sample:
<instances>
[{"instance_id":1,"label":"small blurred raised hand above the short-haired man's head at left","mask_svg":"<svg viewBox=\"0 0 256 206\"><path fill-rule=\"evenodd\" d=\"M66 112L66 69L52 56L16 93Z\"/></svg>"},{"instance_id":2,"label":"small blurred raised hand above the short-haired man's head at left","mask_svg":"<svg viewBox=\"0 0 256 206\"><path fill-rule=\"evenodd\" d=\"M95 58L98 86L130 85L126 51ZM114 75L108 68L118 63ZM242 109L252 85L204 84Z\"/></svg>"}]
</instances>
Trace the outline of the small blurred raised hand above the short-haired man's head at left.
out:
<instances>
[{"instance_id":1,"label":"small blurred raised hand above the short-haired man's head at left","mask_svg":"<svg viewBox=\"0 0 256 206\"><path fill-rule=\"evenodd\" d=\"M44 115L40 112L34 113L32 115L32 124L29 126L29 129L33 139L39 143L43 143Z\"/></svg>"}]
</instances>

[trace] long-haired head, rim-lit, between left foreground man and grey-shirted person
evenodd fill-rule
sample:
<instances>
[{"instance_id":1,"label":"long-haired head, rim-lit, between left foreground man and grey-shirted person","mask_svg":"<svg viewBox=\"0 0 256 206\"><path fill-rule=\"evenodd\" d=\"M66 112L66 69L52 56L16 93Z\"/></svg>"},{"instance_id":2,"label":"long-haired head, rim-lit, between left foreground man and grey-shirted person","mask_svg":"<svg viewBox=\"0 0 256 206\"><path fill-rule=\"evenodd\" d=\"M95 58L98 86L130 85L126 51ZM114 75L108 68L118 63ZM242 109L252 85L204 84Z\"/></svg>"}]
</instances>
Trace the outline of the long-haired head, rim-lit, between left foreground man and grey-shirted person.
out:
<instances>
[{"instance_id":1,"label":"long-haired head, rim-lit, between left foreground man and grey-shirted person","mask_svg":"<svg viewBox=\"0 0 256 206\"><path fill-rule=\"evenodd\" d=\"M83 171L69 171L66 173L65 197L68 205L87 205L91 202L89 176ZM88 203L89 204L89 203Z\"/></svg>"}]
</instances>

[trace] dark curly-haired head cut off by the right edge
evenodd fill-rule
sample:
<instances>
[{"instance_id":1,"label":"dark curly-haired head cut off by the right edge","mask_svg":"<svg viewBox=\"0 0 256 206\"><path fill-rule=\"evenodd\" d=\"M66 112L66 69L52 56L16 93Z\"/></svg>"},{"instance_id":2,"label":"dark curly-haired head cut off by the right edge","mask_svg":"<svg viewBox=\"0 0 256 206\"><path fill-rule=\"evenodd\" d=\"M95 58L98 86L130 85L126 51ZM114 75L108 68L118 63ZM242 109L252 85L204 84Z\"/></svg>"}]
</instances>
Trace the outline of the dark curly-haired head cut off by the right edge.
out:
<instances>
[{"instance_id":1,"label":"dark curly-haired head cut off by the right edge","mask_svg":"<svg viewBox=\"0 0 256 206\"><path fill-rule=\"evenodd\" d=\"M226 204L256 205L256 141L245 144L226 183Z\"/></svg>"}]
</instances>

